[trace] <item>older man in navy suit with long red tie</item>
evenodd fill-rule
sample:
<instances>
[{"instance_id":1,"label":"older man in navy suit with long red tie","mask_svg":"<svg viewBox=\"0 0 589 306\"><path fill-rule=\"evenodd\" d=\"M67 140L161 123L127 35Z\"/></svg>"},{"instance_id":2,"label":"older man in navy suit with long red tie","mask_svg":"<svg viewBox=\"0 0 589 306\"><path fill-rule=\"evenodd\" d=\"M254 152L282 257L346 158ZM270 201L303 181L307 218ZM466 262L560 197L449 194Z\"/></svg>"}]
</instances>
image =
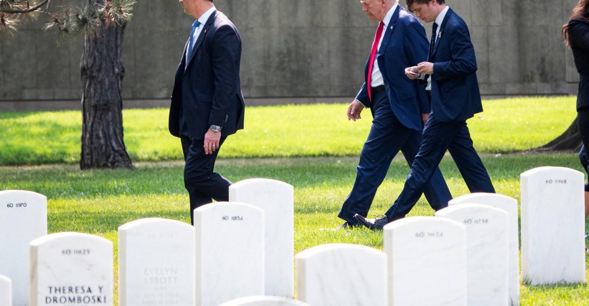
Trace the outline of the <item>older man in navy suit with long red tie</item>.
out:
<instances>
[{"instance_id":1,"label":"older man in navy suit with long red tie","mask_svg":"<svg viewBox=\"0 0 589 306\"><path fill-rule=\"evenodd\" d=\"M366 217L376 189L399 150L411 164L419 149L423 124L429 115L425 91L418 81L408 79L404 74L407 66L427 58L425 29L396 0L360 2L362 10L370 20L379 21L379 26L366 62L366 82L348 107L348 119L360 119L360 112L368 107L373 121L360 154L352 192L339 213L345 222L338 229L361 226L354 215ZM452 195L438 168L432 175L431 182L426 182L419 190L419 196L425 191L431 207L438 210L448 205Z\"/></svg>"}]
</instances>

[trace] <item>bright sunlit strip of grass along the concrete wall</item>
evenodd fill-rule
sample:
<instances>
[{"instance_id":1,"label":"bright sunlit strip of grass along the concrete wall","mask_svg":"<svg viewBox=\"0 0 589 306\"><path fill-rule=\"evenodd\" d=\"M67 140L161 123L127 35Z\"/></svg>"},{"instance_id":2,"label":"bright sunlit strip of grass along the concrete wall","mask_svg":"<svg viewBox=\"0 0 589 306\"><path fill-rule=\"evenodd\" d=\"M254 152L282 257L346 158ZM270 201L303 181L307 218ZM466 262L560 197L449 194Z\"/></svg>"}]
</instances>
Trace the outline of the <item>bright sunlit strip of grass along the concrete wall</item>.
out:
<instances>
[{"instance_id":1,"label":"bright sunlit strip of grass along the concrete wall","mask_svg":"<svg viewBox=\"0 0 589 306\"><path fill-rule=\"evenodd\" d=\"M574 97L484 101L468 121L479 151L514 152L560 135L575 118ZM347 105L247 107L246 129L223 145L221 158L356 156L366 140L370 111L348 121ZM124 141L133 161L181 159L168 133L167 109L123 111ZM80 160L79 111L0 112L0 165L75 163Z\"/></svg>"}]
</instances>

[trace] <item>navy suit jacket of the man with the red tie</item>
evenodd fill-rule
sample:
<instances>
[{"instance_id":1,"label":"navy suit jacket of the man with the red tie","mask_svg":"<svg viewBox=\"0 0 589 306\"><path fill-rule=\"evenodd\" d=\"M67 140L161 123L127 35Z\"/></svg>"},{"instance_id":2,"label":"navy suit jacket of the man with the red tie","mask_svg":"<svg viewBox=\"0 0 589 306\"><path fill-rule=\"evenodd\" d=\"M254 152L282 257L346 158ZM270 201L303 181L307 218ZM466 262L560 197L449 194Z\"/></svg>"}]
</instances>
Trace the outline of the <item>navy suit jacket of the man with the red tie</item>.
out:
<instances>
[{"instance_id":1,"label":"navy suit jacket of the man with the red tie","mask_svg":"<svg viewBox=\"0 0 589 306\"><path fill-rule=\"evenodd\" d=\"M417 80L405 76L405 68L427 60L429 42L425 29L415 16L398 5L385 30L376 61L391 109L405 127L422 131L421 114L430 111L428 97ZM366 61L365 78L368 76L369 61L370 56ZM365 79L356 99L366 107L372 107L366 90Z\"/></svg>"}]
</instances>

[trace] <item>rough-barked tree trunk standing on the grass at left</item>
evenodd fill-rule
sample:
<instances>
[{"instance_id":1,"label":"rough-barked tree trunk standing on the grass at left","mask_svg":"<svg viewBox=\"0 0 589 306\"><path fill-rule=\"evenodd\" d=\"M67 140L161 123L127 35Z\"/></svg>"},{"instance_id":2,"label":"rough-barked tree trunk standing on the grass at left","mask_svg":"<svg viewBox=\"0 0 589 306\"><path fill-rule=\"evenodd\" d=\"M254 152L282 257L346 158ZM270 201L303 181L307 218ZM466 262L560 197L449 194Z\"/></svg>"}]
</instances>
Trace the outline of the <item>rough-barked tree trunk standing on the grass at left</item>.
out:
<instances>
[{"instance_id":1,"label":"rough-barked tree trunk standing on the grass at left","mask_svg":"<svg viewBox=\"0 0 589 306\"><path fill-rule=\"evenodd\" d=\"M84 35L81 169L133 167L123 142L124 29L124 24L102 21L98 34Z\"/></svg>"}]
</instances>

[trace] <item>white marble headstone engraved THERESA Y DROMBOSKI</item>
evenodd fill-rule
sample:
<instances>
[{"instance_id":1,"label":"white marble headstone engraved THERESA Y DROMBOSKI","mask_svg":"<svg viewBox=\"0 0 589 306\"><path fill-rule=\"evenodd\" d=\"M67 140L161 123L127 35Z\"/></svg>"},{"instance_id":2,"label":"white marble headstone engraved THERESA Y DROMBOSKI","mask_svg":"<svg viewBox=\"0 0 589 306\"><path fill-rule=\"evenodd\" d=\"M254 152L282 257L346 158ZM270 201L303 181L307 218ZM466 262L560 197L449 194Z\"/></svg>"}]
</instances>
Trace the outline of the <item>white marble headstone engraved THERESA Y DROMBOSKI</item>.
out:
<instances>
[{"instance_id":1,"label":"white marble headstone engraved THERESA Y DROMBOSKI","mask_svg":"<svg viewBox=\"0 0 589 306\"><path fill-rule=\"evenodd\" d=\"M59 232L31 242L31 306L112 306L112 242Z\"/></svg>"}]
</instances>

